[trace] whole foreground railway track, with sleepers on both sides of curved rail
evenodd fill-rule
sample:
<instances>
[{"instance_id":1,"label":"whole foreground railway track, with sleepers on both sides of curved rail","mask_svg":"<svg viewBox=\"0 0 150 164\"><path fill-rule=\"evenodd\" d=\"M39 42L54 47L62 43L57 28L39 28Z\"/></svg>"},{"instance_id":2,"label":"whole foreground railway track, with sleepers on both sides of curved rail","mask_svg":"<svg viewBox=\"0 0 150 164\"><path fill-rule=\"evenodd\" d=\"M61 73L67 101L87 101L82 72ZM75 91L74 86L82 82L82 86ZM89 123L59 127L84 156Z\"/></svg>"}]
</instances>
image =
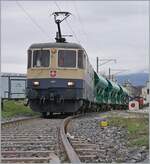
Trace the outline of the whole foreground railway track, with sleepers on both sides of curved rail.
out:
<instances>
[{"instance_id":1,"label":"whole foreground railway track, with sleepers on both sides of curved rail","mask_svg":"<svg viewBox=\"0 0 150 164\"><path fill-rule=\"evenodd\" d=\"M97 162L98 148L86 138L69 136L65 119L11 121L2 124L2 163Z\"/></svg>"}]
</instances>

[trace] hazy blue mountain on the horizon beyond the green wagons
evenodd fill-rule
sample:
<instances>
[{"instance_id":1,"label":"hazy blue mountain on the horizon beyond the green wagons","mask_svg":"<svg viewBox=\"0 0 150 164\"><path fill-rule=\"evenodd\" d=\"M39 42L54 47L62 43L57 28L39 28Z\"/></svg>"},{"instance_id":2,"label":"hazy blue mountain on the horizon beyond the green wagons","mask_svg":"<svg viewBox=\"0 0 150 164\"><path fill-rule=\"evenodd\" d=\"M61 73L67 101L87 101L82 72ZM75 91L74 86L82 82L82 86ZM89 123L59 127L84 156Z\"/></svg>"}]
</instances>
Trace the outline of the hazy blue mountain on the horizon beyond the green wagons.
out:
<instances>
[{"instance_id":1,"label":"hazy blue mountain on the horizon beyond the green wagons","mask_svg":"<svg viewBox=\"0 0 150 164\"><path fill-rule=\"evenodd\" d=\"M134 73L127 75L118 75L117 81L122 84L124 81L129 80L134 86L144 86L149 79L148 73Z\"/></svg>"}]
</instances>

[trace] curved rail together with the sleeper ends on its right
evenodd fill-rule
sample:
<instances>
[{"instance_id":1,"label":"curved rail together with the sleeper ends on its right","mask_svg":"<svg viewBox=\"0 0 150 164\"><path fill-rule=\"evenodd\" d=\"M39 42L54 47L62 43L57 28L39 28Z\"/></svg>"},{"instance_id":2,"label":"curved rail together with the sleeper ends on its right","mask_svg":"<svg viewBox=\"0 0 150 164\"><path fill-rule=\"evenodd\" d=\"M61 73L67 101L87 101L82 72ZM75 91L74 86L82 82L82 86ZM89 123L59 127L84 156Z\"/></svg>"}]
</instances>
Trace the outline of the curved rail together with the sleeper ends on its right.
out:
<instances>
[{"instance_id":1,"label":"curved rail together with the sleeper ends on its right","mask_svg":"<svg viewBox=\"0 0 150 164\"><path fill-rule=\"evenodd\" d=\"M96 163L98 162L98 152L100 151L96 144L91 143L87 138L78 136L71 136L67 132L69 122L82 115L68 117L63 121L63 128L61 128L61 136L67 137L62 140L64 143L67 156L71 163ZM64 135L65 134L65 135Z\"/></svg>"}]
</instances>

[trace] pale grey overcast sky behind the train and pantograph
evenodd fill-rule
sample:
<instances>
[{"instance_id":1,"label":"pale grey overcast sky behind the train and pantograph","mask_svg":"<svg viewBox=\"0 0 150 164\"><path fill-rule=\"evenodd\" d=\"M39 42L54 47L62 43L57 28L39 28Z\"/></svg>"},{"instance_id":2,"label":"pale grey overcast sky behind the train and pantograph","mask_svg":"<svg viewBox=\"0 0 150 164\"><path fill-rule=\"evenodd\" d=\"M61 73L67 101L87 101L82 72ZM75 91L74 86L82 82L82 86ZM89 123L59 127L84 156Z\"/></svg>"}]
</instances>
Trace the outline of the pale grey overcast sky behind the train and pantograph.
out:
<instances>
[{"instance_id":1,"label":"pale grey overcast sky behind the train and pantograph","mask_svg":"<svg viewBox=\"0 0 150 164\"><path fill-rule=\"evenodd\" d=\"M149 61L148 1L3 1L2 72L26 73L26 51L32 43L55 41L54 11L69 11L62 33L67 41L80 43L96 68L96 57L116 59L101 72L127 69L147 72ZM115 73L115 71L114 71Z\"/></svg>"}]
</instances>

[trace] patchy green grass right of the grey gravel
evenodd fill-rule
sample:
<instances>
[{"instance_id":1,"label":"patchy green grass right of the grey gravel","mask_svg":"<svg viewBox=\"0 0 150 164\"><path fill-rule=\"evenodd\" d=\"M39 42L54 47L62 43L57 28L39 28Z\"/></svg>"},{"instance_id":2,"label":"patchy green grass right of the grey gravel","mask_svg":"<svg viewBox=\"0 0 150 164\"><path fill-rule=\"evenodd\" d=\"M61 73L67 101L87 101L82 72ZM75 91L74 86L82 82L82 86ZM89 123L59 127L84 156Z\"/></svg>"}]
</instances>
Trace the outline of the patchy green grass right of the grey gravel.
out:
<instances>
[{"instance_id":1,"label":"patchy green grass right of the grey gravel","mask_svg":"<svg viewBox=\"0 0 150 164\"><path fill-rule=\"evenodd\" d=\"M109 118L109 124L127 129L129 146L149 148L149 118Z\"/></svg>"}]
</instances>

